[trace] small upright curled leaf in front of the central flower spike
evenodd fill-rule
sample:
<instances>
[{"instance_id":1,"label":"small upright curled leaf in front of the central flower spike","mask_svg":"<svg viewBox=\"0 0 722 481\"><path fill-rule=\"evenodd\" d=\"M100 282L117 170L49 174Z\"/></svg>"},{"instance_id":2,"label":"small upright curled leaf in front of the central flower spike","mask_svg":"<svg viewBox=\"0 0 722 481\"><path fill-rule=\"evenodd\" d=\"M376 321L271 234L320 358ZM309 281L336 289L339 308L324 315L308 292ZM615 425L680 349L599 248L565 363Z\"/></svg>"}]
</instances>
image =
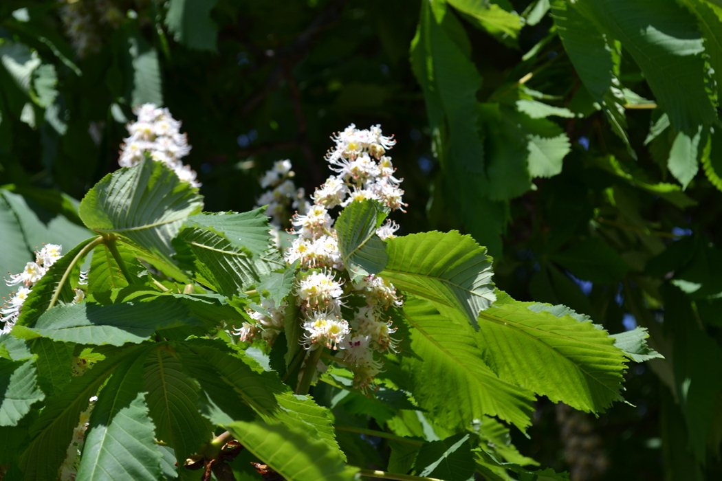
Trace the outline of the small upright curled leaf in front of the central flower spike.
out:
<instances>
[{"instance_id":1,"label":"small upright curled leaf in front of the central flower spike","mask_svg":"<svg viewBox=\"0 0 722 481\"><path fill-rule=\"evenodd\" d=\"M352 202L339 215L339 250L352 278L379 273L386 265L386 245L376 235L383 219L386 213L373 200Z\"/></svg>"}]
</instances>

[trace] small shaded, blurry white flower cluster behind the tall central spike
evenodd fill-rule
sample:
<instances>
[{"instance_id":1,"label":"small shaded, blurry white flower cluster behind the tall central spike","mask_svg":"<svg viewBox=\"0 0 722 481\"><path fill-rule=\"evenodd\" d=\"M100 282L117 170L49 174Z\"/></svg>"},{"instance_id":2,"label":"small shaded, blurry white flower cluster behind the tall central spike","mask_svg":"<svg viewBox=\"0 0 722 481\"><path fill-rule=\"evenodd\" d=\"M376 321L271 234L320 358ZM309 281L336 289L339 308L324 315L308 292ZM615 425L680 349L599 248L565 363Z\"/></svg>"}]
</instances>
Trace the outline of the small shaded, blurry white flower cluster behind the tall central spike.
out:
<instances>
[{"instance_id":1,"label":"small shaded, blurry white flower cluster behind the tall central spike","mask_svg":"<svg viewBox=\"0 0 722 481\"><path fill-rule=\"evenodd\" d=\"M290 160L279 160L261 177L261 187L266 190L256 200L256 207L266 207L266 216L271 218L271 225L277 229L287 227L291 209L305 213L308 200L303 187L296 188L291 180L295 177Z\"/></svg>"}]
</instances>

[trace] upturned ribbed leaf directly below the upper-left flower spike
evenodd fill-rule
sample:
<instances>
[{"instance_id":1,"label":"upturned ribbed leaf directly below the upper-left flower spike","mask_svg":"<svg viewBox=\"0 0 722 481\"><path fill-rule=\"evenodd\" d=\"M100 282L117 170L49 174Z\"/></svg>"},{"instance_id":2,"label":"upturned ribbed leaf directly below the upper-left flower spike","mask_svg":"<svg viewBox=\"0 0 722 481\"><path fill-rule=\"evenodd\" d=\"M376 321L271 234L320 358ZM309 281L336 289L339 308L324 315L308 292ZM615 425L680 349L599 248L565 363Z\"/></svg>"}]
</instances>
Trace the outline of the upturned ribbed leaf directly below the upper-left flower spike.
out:
<instances>
[{"instance_id":1,"label":"upturned ribbed leaf directly below the upper-left flower spike","mask_svg":"<svg viewBox=\"0 0 722 481\"><path fill-rule=\"evenodd\" d=\"M79 213L90 229L130 239L155 257L157 268L183 280L186 276L171 260L171 240L202 207L196 188L162 162L144 159L103 177L80 202Z\"/></svg>"}]
</instances>

